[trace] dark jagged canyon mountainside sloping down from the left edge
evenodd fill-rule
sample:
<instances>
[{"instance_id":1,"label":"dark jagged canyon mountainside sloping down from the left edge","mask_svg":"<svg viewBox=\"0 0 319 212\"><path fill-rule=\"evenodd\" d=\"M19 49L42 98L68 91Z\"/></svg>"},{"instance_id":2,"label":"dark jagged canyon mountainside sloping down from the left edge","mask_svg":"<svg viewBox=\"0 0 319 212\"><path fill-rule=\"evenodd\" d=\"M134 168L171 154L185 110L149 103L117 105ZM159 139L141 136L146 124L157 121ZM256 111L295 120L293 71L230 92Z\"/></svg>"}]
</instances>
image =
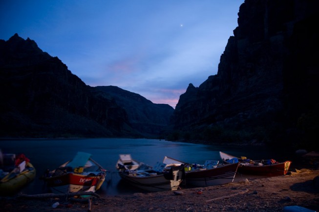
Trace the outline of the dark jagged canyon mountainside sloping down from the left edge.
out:
<instances>
[{"instance_id":1,"label":"dark jagged canyon mountainside sloping down from the left edge","mask_svg":"<svg viewBox=\"0 0 319 212\"><path fill-rule=\"evenodd\" d=\"M158 136L158 131L134 129L130 114L97 90L35 41L17 34L0 40L0 137ZM152 113L156 116L156 110Z\"/></svg>"}]
</instances>

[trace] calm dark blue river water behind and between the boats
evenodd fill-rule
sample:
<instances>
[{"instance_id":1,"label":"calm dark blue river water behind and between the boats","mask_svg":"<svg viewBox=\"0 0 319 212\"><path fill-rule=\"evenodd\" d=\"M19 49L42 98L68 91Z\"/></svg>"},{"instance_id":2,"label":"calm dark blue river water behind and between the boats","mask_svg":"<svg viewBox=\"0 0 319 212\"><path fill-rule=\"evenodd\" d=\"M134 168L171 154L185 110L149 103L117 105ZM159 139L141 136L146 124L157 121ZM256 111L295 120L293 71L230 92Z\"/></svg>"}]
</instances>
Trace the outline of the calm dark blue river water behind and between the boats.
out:
<instances>
[{"instance_id":1,"label":"calm dark blue river water behind and between the boats","mask_svg":"<svg viewBox=\"0 0 319 212\"><path fill-rule=\"evenodd\" d=\"M151 166L155 165L157 161L162 162L164 156L189 163L204 164L205 160L220 160L219 151L235 156L249 155L255 159L281 159L277 158L276 153L265 147L230 148L229 146L131 138L2 139L0 149L4 153L25 154L36 168L36 179L21 191L26 194L48 193L49 191L39 177L46 169L53 170L72 159L77 152L92 154L92 158L107 170L106 181L97 191L101 196L143 192L120 180L115 169L119 154L131 154L132 158Z\"/></svg>"}]
</instances>

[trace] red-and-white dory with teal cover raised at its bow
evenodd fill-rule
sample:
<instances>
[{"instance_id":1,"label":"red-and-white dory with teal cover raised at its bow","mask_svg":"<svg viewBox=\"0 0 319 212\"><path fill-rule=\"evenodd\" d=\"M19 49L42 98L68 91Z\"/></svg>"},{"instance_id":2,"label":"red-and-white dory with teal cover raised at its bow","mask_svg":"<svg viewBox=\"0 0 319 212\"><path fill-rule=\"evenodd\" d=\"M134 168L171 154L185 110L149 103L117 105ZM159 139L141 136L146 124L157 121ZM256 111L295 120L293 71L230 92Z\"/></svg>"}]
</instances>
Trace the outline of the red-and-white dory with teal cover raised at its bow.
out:
<instances>
[{"instance_id":1,"label":"red-and-white dory with teal cover raised at its bow","mask_svg":"<svg viewBox=\"0 0 319 212\"><path fill-rule=\"evenodd\" d=\"M106 170L91 158L78 152L75 157L44 176L53 193L95 192L105 181Z\"/></svg>"}]
</instances>

